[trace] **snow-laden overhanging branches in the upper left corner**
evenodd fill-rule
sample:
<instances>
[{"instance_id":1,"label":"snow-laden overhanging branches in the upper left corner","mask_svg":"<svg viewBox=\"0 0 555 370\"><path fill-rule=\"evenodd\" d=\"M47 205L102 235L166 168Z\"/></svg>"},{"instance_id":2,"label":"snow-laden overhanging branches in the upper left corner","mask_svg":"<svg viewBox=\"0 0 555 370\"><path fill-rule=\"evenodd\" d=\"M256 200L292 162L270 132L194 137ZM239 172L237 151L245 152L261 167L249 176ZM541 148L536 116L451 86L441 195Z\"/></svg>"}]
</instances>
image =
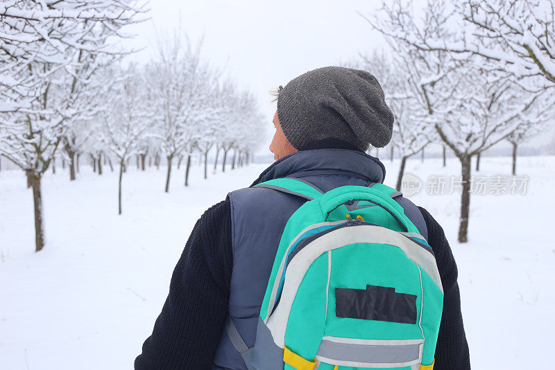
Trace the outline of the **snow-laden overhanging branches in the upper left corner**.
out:
<instances>
[{"instance_id":1,"label":"snow-laden overhanging branches in the upper left corner","mask_svg":"<svg viewBox=\"0 0 555 370\"><path fill-rule=\"evenodd\" d=\"M137 0L13 0L0 4L0 110L24 106L28 90L59 69L75 74L90 56L126 53L117 46L128 37L123 27L141 22L146 11ZM108 41L110 40L110 41ZM92 59L92 60L91 60ZM33 63L45 65L28 73ZM15 104L15 106L14 106Z\"/></svg>"}]
</instances>

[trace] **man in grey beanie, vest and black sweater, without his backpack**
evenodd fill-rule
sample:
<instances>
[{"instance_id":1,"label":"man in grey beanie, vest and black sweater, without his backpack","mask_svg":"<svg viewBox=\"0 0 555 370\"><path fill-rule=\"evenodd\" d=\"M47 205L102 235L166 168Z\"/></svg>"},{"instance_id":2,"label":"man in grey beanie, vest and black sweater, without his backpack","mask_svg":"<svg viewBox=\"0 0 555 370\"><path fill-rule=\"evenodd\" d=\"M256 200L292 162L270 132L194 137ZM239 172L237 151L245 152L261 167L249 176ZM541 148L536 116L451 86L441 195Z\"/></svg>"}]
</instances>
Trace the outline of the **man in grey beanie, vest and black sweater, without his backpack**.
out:
<instances>
[{"instance_id":1,"label":"man in grey beanie, vest and black sweater, without his backpack","mask_svg":"<svg viewBox=\"0 0 555 370\"><path fill-rule=\"evenodd\" d=\"M368 72L324 67L298 76L280 90L273 124L276 162L253 185L286 176L323 191L383 182L384 165L366 150L391 140L393 114ZM196 222L135 369L247 369L226 318L252 347L285 223L305 201L253 185L231 192ZM402 196L395 201L432 246L443 284L434 369L470 369L456 264L443 229L424 208Z\"/></svg>"}]
</instances>

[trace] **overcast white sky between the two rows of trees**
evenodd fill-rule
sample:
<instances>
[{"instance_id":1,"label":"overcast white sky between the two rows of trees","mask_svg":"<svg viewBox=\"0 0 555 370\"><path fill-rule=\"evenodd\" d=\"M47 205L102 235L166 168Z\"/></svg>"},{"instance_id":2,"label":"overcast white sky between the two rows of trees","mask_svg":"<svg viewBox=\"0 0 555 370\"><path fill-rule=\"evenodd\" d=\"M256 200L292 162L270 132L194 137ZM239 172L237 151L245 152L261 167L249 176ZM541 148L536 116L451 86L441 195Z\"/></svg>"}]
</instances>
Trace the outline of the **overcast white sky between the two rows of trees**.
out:
<instances>
[{"instance_id":1,"label":"overcast white sky between the two rows of trees","mask_svg":"<svg viewBox=\"0 0 555 370\"><path fill-rule=\"evenodd\" d=\"M379 33L357 14L375 12L378 0L151 0L150 20L129 28L137 35L130 57L148 61L157 33L180 25L192 42L204 36L202 55L215 67L225 67L241 87L253 91L268 122L275 103L268 90L285 85L311 69L336 65L374 47L388 49ZM416 6L425 0L415 0ZM262 146L262 152L266 146Z\"/></svg>"}]
</instances>

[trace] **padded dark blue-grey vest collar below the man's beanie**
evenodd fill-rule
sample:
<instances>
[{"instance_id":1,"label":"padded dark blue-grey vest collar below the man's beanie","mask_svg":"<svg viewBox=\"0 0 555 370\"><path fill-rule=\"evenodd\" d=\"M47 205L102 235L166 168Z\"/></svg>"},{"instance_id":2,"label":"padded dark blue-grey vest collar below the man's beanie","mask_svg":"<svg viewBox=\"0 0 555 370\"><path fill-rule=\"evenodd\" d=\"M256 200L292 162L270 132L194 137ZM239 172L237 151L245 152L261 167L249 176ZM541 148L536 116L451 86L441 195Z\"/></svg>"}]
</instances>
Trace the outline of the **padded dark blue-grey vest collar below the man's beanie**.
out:
<instances>
[{"instance_id":1,"label":"padded dark blue-grey vest collar below the man's beanie","mask_svg":"<svg viewBox=\"0 0 555 370\"><path fill-rule=\"evenodd\" d=\"M367 178L374 183L383 183L386 169L382 162L362 151L348 149L311 149L291 153L273 162L270 167L250 185L253 187L273 178L283 178L292 174L316 172L348 174Z\"/></svg>"}]
</instances>

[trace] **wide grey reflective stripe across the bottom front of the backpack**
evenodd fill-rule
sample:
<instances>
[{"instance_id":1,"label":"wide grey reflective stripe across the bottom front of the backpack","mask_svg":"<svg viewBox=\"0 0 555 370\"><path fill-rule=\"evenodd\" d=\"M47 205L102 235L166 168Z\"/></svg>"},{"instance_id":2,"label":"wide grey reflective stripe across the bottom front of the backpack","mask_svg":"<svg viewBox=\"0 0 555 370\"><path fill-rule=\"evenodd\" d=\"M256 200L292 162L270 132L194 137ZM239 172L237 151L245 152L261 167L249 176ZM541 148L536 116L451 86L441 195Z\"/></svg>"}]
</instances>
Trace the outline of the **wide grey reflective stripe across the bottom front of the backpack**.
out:
<instances>
[{"instance_id":1,"label":"wide grey reflective stripe across the bottom front of the backpack","mask_svg":"<svg viewBox=\"0 0 555 370\"><path fill-rule=\"evenodd\" d=\"M316 358L349 367L407 367L421 362L424 339L367 340L324 337Z\"/></svg>"}]
</instances>

